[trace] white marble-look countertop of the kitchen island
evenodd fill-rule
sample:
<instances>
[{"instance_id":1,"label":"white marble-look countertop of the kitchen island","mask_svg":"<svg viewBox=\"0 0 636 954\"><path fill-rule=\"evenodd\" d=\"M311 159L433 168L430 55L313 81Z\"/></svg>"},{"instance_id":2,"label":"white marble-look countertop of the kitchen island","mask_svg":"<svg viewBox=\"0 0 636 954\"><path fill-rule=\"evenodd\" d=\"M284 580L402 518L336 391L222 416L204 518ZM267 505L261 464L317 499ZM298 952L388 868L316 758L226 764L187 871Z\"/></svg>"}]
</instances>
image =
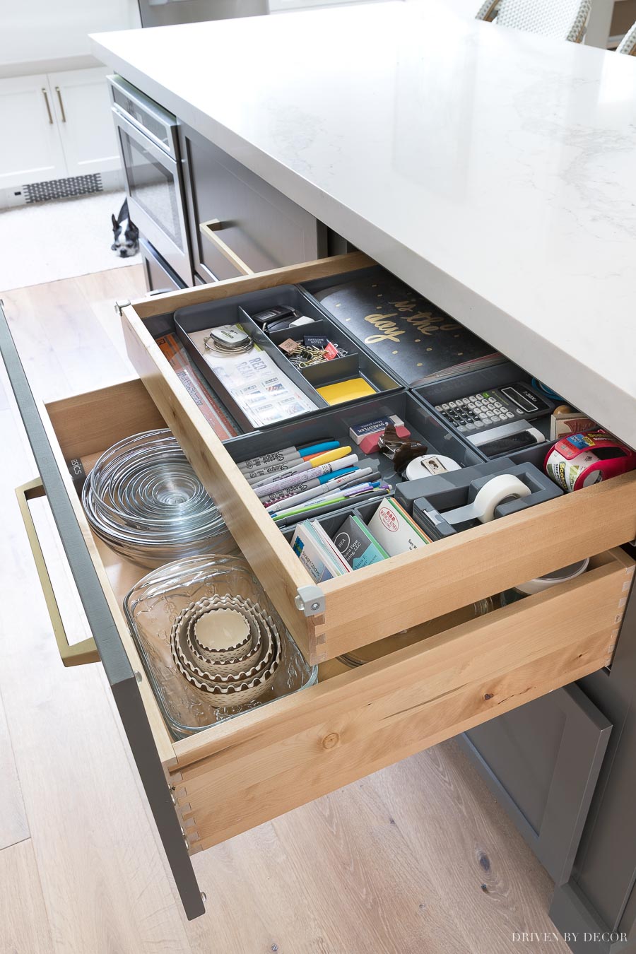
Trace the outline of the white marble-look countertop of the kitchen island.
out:
<instances>
[{"instance_id":1,"label":"white marble-look countertop of the kitchen island","mask_svg":"<svg viewBox=\"0 0 636 954\"><path fill-rule=\"evenodd\" d=\"M636 59L439 0L93 51L636 447Z\"/></svg>"}]
</instances>

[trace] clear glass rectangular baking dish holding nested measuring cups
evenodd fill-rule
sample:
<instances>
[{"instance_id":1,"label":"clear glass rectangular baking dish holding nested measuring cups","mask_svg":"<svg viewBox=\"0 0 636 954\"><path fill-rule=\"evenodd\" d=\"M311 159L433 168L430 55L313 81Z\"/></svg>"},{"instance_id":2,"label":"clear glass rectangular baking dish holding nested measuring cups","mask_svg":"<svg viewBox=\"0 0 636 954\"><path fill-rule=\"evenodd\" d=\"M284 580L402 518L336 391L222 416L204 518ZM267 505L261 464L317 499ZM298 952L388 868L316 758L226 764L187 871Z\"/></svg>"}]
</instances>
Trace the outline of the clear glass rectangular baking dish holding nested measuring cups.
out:
<instances>
[{"instance_id":1,"label":"clear glass rectangular baking dish holding nested measuring cups","mask_svg":"<svg viewBox=\"0 0 636 954\"><path fill-rule=\"evenodd\" d=\"M280 637L281 661L263 695L252 702L216 708L179 673L171 653L171 630L177 615L206 596L242 596L270 616ZM249 564L237 556L194 556L152 570L124 600L124 612L133 633L159 708L174 738L185 738L228 718L291 695L318 680L286 630Z\"/></svg>"}]
</instances>

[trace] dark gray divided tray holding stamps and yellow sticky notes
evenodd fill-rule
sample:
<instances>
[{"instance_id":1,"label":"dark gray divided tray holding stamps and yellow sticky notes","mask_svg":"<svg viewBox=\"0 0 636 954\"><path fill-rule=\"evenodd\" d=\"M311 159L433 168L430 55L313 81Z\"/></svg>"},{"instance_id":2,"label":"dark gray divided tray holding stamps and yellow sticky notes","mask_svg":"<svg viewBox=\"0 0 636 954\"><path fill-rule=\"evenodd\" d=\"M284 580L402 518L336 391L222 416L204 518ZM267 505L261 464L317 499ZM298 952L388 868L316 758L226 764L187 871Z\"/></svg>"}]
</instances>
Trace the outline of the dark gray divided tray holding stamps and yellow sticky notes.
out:
<instances>
[{"instance_id":1,"label":"dark gray divided tray holding stamps and yellow sticky notes","mask_svg":"<svg viewBox=\"0 0 636 954\"><path fill-rule=\"evenodd\" d=\"M253 321L251 314L270 307L273 304L287 304L309 318L314 318L312 324L300 325L297 328L290 328L289 331L277 332L276 337L265 334L265 332ZM319 324L318 324L319 322ZM212 368L201 355L200 351L192 340L191 335L204 328L216 327L221 324L240 324L256 344L270 355L280 371L285 374L298 389L316 404L316 410L327 408L330 405L318 394L317 387L323 384L337 384L349 378L363 378L377 393L385 393L397 390L400 384L390 377L380 367L380 364L373 361L366 354L360 353L358 345L339 331L335 322L330 321L324 312L318 307L318 304L311 301L309 296L304 295L294 285L282 285L275 288L268 288L258 292L251 292L240 297L236 296L223 301L208 302L200 305L191 305L186 308L180 308L174 312L174 325L177 334L184 343L190 357L199 368L206 380L214 387L216 393L227 404L232 414L236 417L238 423L246 432L256 430L243 409L236 403L234 397L229 393L225 386L216 378ZM319 330L318 330L319 329ZM323 366L314 365L313 367L298 369L291 363L278 347L280 342L286 338L301 339L307 334L326 334L327 337L334 337L336 343L341 344L349 354L345 358L336 358L331 362L325 362ZM343 404L352 404L354 402L345 402ZM342 406L342 405L338 405ZM315 413L306 411L297 414L289 420L298 420L306 417L307 414ZM265 429L277 427L280 422L271 425L265 425Z\"/></svg>"}]
</instances>

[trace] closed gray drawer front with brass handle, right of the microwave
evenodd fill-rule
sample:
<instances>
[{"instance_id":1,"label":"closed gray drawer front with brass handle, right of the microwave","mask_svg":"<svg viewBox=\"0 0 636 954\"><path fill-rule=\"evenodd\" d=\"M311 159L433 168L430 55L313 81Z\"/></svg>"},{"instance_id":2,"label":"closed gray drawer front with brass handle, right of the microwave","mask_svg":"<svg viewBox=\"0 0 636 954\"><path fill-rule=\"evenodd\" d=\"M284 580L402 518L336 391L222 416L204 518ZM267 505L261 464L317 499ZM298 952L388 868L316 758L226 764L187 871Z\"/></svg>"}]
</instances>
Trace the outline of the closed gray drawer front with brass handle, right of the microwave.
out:
<instances>
[{"instance_id":1,"label":"closed gray drawer front with brass handle, right of the microwave","mask_svg":"<svg viewBox=\"0 0 636 954\"><path fill-rule=\"evenodd\" d=\"M316 218L263 179L202 138L179 127L195 272L206 280L236 278L239 272L199 223L222 222L218 233L254 272L264 272L326 254L326 230Z\"/></svg>"}]
</instances>

